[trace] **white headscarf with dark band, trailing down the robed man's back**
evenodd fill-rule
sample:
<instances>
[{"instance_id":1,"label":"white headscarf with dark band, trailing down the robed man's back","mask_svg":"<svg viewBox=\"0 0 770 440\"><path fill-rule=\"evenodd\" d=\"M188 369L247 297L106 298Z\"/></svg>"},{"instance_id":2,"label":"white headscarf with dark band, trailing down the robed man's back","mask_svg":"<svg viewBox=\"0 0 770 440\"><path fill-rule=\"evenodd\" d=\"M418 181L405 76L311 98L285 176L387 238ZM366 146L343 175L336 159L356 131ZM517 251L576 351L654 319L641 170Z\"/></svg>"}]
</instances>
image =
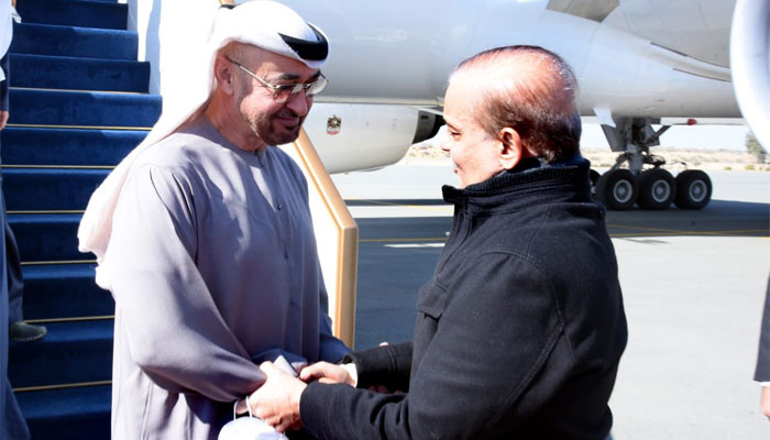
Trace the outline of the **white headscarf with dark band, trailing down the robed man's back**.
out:
<instances>
[{"instance_id":1,"label":"white headscarf with dark band, trailing down the robed man's back","mask_svg":"<svg viewBox=\"0 0 770 440\"><path fill-rule=\"evenodd\" d=\"M302 62L310 68L319 68L329 52L326 35L284 4L257 0L234 8L220 8L211 26L200 68L190 73L194 77L188 79L190 92L185 96L184 105L175 106L178 110L161 116L145 140L118 164L88 201L78 228L78 249L80 252L94 252L101 266L112 233L112 215L131 164L145 150L174 133L202 110L213 92L217 52L230 42L251 44ZM100 287L109 288L109 275L103 267L100 268L97 268L96 282Z\"/></svg>"}]
</instances>

